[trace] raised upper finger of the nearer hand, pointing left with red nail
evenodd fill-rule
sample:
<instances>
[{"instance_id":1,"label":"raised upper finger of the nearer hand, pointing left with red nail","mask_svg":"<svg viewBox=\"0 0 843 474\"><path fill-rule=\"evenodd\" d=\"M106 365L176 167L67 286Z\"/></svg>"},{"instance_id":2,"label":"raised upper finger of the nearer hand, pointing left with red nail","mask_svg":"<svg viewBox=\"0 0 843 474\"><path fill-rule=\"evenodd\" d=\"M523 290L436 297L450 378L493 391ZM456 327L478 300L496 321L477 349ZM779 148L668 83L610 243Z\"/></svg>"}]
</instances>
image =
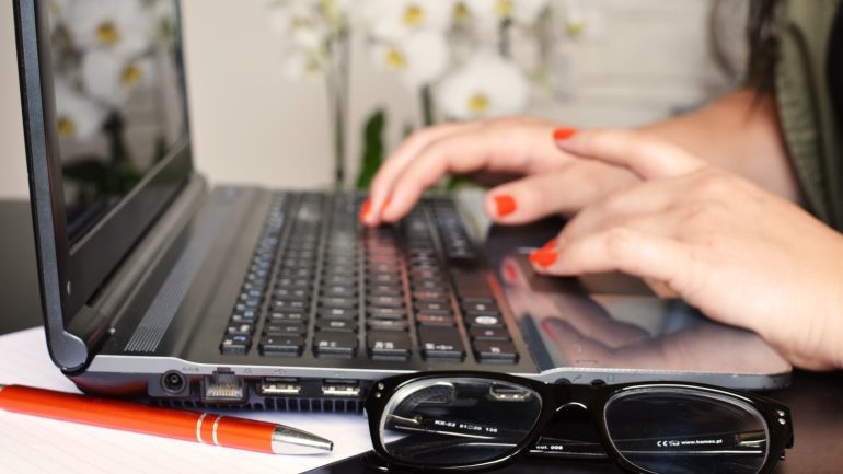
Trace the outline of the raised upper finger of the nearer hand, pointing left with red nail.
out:
<instances>
[{"instance_id":1,"label":"raised upper finger of the nearer hand, pointing left with red nail","mask_svg":"<svg viewBox=\"0 0 843 474\"><path fill-rule=\"evenodd\" d=\"M561 150L623 166L645 180L677 176L705 165L683 149L632 130L573 130L554 132Z\"/></svg>"}]
</instances>

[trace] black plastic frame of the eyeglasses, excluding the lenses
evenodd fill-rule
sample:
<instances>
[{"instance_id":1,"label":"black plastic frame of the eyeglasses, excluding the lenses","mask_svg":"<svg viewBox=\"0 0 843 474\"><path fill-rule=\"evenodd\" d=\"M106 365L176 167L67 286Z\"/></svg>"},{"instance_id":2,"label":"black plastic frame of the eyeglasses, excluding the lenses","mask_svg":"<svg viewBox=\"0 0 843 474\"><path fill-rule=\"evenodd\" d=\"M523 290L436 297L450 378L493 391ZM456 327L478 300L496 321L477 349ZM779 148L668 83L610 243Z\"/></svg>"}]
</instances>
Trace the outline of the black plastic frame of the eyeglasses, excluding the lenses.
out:
<instances>
[{"instance_id":1,"label":"black plastic frame of the eyeglasses, excluding the lenses","mask_svg":"<svg viewBox=\"0 0 843 474\"><path fill-rule=\"evenodd\" d=\"M539 417L528 435L510 452L498 459L484 461L480 463L466 463L452 466L431 466L424 463L408 463L390 454L383 440L381 439L381 418L385 407L393 395L404 385L413 382L429 379L486 379L492 381L508 382L521 384L535 391L542 401ZM721 386L707 385L690 382L632 382L623 384L555 384L546 383L522 377L509 375L505 373L490 373L477 371L431 371L406 373L383 379L372 385L366 401L366 413L369 419L369 432L372 440L374 452L390 466L402 467L413 471L426 472L466 472L490 470L513 462L518 456L526 453L536 443L544 432L545 428L556 415L556 413L566 406L580 406L586 409L592 423L600 433L600 443L605 450L607 455L619 467L635 474L653 474L650 471L643 470L624 458L611 441L607 424L605 409L610 401L615 396L634 390L640 389L669 389L669 390L689 390L697 391L701 394L717 395L731 398L736 402L747 404L754 408L763 418L769 433L767 453L764 463L759 469L758 474L769 474L773 471L780 459L784 459L785 449L793 448L794 433L790 411L783 403L754 393L747 393L725 389Z\"/></svg>"}]
</instances>

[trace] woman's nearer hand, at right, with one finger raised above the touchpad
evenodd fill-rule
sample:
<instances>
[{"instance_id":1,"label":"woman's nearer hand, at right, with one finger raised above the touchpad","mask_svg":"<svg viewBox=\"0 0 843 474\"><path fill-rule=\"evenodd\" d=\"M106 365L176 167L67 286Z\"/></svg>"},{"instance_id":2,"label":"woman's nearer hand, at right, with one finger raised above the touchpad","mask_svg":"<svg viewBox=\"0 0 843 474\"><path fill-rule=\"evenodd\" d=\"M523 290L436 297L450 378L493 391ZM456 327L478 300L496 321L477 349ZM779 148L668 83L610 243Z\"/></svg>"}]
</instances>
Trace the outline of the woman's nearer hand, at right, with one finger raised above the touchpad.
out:
<instances>
[{"instance_id":1,"label":"woman's nearer hand, at right, with one finger raised above the touchpad","mask_svg":"<svg viewBox=\"0 0 843 474\"><path fill-rule=\"evenodd\" d=\"M633 131L585 130L566 153L644 182L587 206L531 255L536 270L620 270L755 331L794 365L843 367L843 238L793 203Z\"/></svg>"}]
</instances>

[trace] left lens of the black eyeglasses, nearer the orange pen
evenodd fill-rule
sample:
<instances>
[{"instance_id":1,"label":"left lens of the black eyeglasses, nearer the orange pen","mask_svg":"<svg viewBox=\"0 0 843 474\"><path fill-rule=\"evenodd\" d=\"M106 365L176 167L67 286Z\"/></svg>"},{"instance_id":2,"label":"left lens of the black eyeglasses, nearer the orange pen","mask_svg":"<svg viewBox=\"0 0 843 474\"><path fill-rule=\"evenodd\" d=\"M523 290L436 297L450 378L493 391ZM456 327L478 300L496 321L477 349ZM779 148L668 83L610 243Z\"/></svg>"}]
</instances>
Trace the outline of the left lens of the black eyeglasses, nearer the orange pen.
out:
<instances>
[{"instance_id":1,"label":"left lens of the black eyeglasses, nearer the orange pen","mask_svg":"<svg viewBox=\"0 0 843 474\"><path fill-rule=\"evenodd\" d=\"M513 452L541 407L536 392L513 383L482 378L413 381L388 402L381 442L408 463L481 464Z\"/></svg>"}]
</instances>

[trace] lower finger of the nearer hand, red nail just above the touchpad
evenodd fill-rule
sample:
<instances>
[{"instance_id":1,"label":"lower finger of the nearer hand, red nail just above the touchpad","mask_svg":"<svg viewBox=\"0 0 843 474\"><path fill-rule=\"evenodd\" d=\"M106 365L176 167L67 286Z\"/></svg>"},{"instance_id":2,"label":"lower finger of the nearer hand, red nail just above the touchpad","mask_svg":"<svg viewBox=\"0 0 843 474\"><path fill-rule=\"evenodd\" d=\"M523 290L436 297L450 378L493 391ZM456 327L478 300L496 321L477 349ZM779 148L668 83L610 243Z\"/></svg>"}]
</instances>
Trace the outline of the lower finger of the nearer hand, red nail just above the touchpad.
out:
<instances>
[{"instance_id":1,"label":"lower finger of the nearer hand, red nail just above the touchpad","mask_svg":"<svg viewBox=\"0 0 843 474\"><path fill-rule=\"evenodd\" d=\"M665 282L686 297L700 269L691 247L680 241L637 229L616 227L573 241L559 241L530 256L535 269L550 275L623 271Z\"/></svg>"}]
</instances>

